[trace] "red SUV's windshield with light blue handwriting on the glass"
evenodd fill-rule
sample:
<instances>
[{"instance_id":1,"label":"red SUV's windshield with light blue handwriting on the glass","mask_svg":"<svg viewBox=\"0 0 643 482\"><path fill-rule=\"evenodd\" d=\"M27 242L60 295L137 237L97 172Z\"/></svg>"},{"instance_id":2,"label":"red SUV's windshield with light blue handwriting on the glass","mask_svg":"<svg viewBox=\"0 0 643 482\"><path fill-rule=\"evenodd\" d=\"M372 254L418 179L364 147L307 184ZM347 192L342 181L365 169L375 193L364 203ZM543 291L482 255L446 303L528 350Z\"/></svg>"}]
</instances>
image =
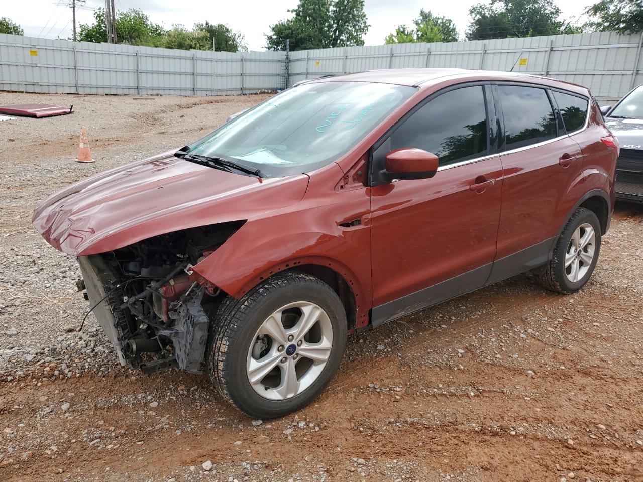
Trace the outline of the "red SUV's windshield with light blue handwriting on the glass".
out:
<instances>
[{"instance_id":1,"label":"red SUV's windshield with light blue handwriting on the glass","mask_svg":"<svg viewBox=\"0 0 643 482\"><path fill-rule=\"evenodd\" d=\"M367 82L303 84L260 103L189 146L270 176L311 172L345 154L416 89Z\"/></svg>"}]
</instances>

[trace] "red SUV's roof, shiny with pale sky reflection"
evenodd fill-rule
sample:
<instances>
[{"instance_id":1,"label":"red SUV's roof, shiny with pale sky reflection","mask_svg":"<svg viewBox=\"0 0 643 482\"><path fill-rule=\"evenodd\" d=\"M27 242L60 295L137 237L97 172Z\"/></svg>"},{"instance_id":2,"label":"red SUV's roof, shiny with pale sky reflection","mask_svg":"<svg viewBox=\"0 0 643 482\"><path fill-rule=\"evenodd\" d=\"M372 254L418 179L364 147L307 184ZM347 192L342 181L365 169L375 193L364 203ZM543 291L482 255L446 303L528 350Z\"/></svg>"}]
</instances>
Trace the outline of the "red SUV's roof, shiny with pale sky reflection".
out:
<instances>
[{"instance_id":1,"label":"red SUV's roof, shiny with pale sky reflection","mask_svg":"<svg viewBox=\"0 0 643 482\"><path fill-rule=\"evenodd\" d=\"M449 79L447 79L449 78ZM528 82L530 84L559 87L575 93L589 95L588 89L581 85L563 80L524 74L518 72L502 72L489 70L467 69L382 69L357 72L346 75L333 75L318 78L309 82L377 82L381 84L408 85L410 87L431 87L444 80L496 80L511 82ZM308 82L305 82L308 83ZM454 82L455 83L455 82Z\"/></svg>"}]
</instances>

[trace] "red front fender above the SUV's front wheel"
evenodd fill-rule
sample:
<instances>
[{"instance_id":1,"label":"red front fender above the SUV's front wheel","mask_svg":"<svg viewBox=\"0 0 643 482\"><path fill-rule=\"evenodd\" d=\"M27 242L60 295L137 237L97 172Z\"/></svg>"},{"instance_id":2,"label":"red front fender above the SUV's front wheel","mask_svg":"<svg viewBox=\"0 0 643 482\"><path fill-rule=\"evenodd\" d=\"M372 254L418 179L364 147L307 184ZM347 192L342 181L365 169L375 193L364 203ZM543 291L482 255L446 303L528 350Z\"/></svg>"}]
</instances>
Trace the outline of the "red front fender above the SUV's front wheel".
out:
<instances>
[{"instance_id":1,"label":"red front fender above the SUV's front wheel","mask_svg":"<svg viewBox=\"0 0 643 482\"><path fill-rule=\"evenodd\" d=\"M372 302L368 195L368 188L316 195L312 186L311 195L307 192L291 210L248 220L194 265L192 276L239 299L276 272L297 265L323 265L343 276L352 289L358 326L368 323ZM347 219L361 219L361 224L340 226Z\"/></svg>"}]
</instances>

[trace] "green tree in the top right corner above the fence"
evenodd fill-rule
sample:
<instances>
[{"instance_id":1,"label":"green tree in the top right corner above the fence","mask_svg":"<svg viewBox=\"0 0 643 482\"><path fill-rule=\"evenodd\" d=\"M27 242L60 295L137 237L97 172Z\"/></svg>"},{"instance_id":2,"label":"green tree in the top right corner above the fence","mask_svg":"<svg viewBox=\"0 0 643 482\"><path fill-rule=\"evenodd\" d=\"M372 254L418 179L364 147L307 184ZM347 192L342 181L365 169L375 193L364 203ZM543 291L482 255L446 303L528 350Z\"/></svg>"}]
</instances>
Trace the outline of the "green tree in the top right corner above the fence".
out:
<instances>
[{"instance_id":1,"label":"green tree in the top right corner above the fence","mask_svg":"<svg viewBox=\"0 0 643 482\"><path fill-rule=\"evenodd\" d=\"M643 0L601 0L589 6L586 15L598 17L586 24L597 31L633 33L643 30Z\"/></svg>"}]
</instances>

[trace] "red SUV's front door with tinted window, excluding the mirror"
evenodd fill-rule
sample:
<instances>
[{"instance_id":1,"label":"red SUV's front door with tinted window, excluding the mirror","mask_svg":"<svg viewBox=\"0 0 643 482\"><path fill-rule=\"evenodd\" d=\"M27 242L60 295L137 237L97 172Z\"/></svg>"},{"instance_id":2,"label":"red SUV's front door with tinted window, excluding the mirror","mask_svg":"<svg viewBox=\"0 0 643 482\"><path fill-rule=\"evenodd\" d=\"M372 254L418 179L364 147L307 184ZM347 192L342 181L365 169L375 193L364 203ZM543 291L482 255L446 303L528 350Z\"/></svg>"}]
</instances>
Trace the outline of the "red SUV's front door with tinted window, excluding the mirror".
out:
<instances>
[{"instance_id":1,"label":"red SUV's front door with tinted window, excluding the mirror","mask_svg":"<svg viewBox=\"0 0 643 482\"><path fill-rule=\"evenodd\" d=\"M439 157L431 179L371 189L374 325L482 287L489 277L502 197L490 93L469 85L437 94L374 151L374 168L401 147Z\"/></svg>"}]
</instances>

